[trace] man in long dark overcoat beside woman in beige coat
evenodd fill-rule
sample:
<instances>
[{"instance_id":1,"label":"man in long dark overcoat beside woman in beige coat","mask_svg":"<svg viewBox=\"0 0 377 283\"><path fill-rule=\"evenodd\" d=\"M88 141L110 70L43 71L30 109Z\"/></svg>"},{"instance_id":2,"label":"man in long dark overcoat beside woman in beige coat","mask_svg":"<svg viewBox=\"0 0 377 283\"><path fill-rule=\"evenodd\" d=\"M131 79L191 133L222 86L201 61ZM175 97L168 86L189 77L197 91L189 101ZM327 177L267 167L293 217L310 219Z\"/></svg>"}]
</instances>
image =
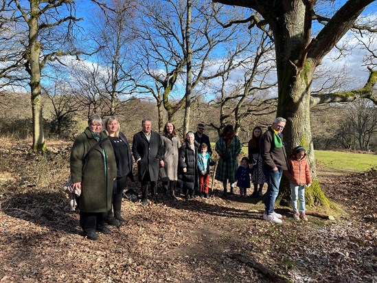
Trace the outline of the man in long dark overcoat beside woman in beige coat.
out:
<instances>
[{"instance_id":1,"label":"man in long dark overcoat beside woman in beige coat","mask_svg":"<svg viewBox=\"0 0 377 283\"><path fill-rule=\"evenodd\" d=\"M157 202L157 179L159 166L163 167L163 145L161 136L152 131L149 119L141 122L142 131L133 136L133 157L137 162L139 181L141 182L141 205L148 203L148 183L152 201Z\"/></svg>"}]
</instances>

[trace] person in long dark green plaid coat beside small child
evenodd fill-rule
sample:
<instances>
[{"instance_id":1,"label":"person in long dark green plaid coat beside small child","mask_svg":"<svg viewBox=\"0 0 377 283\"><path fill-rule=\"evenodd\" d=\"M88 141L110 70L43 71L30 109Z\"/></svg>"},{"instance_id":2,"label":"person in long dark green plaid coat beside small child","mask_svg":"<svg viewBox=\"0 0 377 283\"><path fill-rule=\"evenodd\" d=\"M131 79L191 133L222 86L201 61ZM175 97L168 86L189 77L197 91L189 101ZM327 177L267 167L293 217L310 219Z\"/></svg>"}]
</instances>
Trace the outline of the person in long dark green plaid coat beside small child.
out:
<instances>
[{"instance_id":1,"label":"person in long dark green plaid coat beside small child","mask_svg":"<svg viewBox=\"0 0 377 283\"><path fill-rule=\"evenodd\" d=\"M240 139L236 136L232 125L225 126L220 138L216 141L215 150L220 157L215 179L222 181L224 196L227 196L227 181L231 184L230 193L234 193L234 174L238 168L237 157L242 150Z\"/></svg>"}]
</instances>

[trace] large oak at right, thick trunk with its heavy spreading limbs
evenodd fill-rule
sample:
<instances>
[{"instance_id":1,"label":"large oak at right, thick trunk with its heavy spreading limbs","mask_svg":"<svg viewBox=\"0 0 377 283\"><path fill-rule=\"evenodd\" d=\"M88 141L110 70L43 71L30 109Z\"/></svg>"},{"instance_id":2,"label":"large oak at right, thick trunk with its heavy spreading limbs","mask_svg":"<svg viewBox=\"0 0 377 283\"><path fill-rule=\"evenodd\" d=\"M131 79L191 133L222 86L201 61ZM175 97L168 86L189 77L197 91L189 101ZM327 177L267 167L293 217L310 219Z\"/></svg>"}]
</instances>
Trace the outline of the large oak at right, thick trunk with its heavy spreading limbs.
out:
<instances>
[{"instance_id":1,"label":"large oak at right, thick trunk with its heavy spreading limbs","mask_svg":"<svg viewBox=\"0 0 377 283\"><path fill-rule=\"evenodd\" d=\"M277 115L286 117L284 131L286 148L301 144L308 148L308 161L312 170L313 185L306 190L309 204L314 202L328 206L319 187L315 171L315 157L310 133L310 89L312 75L323 57L330 52L345 33L354 25L367 5L376 0L348 0L325 23L315 38L311 39L313 8L316 1L275 0L213 0L227 5L239 5L258 11L273 30L278 78ZM365 25L365 28L368 28ZM367 97L377 102L372 88L376 84L377 72L371 76L363 89L350 93L331 93L312 97L312 105L319 103L353 101ZM289 189L283 185L284 204L289 203ZM288 202L287 202L288 201Z\"/></svg>"}]
</instances>

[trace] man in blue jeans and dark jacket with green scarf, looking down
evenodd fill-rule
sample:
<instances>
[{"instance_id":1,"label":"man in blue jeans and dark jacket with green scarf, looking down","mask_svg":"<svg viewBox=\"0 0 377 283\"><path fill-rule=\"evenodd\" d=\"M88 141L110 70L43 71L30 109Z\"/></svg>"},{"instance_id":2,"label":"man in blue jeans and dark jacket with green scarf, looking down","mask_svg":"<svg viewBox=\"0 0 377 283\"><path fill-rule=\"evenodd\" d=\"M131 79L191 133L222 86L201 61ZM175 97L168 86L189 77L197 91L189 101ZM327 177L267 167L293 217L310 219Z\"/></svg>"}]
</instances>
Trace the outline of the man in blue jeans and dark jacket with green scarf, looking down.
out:
<instances>
[{"instance_id":1,"label":"man in blue jeans and dark jacket with green scarf, looking down","mask_svg":"<svg viewBox=\"0 0 377 283\"><path fill-rule=\"evenodd\" d=\"M279 184L283 170L288 170L282 135L285 126L286 120L282 117L277 117L260 139L263 172L266 176L266 183L269 185L266 192L263 218L272 223L283 222L282 215L274 212L273 205L277 194L279 194Z\"/></svg>"}]
</instances>

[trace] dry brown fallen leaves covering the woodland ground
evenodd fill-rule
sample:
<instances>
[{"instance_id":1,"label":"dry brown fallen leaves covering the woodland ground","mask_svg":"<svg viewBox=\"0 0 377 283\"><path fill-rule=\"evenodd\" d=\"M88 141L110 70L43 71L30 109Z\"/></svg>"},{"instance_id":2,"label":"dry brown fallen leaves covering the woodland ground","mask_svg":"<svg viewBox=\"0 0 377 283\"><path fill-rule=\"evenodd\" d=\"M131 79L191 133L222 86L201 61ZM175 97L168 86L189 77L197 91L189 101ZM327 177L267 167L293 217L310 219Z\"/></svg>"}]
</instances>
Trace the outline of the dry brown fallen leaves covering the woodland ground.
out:
<instances>
[{"instance_id":1,"label":"dry brown fallen leaves covering the woodland ground","mask_svg":"<svg viewBox=\"0 0 377 283\"><path fill-rule=\"evenodd\" d=\"M334 221L273 225L261 203L216 191L124 199L129 223L91 241L59 191L67 152L0 148L0 282L377 282L376 171L321 179L347 212Z\"/></svg>"}]
</instances>

